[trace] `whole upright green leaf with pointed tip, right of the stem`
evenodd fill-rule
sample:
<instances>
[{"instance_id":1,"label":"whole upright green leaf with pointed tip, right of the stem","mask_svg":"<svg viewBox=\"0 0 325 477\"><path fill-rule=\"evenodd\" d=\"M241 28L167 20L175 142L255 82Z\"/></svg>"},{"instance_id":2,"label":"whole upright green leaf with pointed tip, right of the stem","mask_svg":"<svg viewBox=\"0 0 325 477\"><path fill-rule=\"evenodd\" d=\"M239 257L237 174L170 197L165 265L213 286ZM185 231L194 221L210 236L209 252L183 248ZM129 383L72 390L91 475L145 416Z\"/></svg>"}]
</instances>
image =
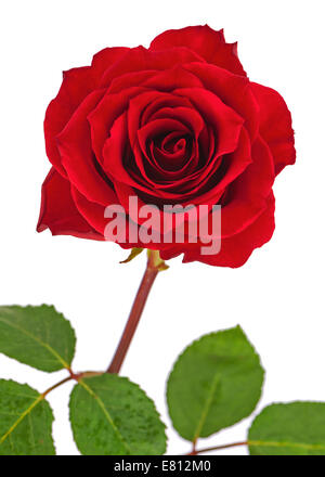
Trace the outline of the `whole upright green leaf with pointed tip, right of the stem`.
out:
<instances>
[{"instance_id":1,"label":"whole upright green leaf with pointed tip, right of the stem","mask_svg":"<svg viewBox=\"0 0 325 477\"><path fill-rule=\"evenodd\" d=\"M260 398L263 374L239 326L194 341L168 379L167 402L176 430L194 442L248 416Z\"/></svg>"}]
</instances>

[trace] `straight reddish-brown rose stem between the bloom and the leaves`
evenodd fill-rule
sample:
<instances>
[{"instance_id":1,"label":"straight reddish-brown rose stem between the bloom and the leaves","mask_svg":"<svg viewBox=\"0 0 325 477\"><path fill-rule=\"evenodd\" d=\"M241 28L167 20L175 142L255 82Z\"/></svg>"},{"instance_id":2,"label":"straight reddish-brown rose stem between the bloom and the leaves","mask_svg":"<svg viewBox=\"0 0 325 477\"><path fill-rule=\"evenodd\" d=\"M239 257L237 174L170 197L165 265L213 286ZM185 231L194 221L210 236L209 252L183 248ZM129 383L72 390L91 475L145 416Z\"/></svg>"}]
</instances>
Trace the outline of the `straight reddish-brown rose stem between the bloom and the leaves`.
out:
<instances>
[{"instance_id":1,"label":"straight reddish-brown rose stem between the bloom and the leaves","mask_svg":"<svg viewBox=\"0 0 325 477\"><path fill-rule=\"evenodd\" d=\"M126 354L128 352L129 346L135 333L138 323L142 315L146 299L148 297L150 291L154 284L154 281L160 270L166 268L164 261L159 257L159 252L148 250L148 259L146 263L146 269L139 286L135 299L133 301L132 309L121 338L119 340L118 347L115 351L113 360L107 369L107 373L118 374Z\"/></svg>"}]
</instances>

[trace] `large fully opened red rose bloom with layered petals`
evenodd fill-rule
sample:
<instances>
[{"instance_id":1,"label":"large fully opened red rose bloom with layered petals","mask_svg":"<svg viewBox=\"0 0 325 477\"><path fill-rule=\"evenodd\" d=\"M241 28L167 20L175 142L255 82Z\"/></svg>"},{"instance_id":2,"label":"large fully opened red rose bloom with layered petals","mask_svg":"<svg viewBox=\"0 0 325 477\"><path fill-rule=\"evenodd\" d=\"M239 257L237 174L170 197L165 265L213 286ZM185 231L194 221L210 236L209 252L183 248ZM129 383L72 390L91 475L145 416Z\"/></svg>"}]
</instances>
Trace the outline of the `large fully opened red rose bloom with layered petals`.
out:
<instances>
[{"instance_id":1,"label":"large fully opened red rose bloom with layered petals","mask_svg":"<svg viewBox=\"0 0 325 477\"><path fill-rule=\"evenodd\" d=\"M64 73L44 120L52 163L38 231L105 240L105 209L221 206L221 249L164 237L123 248L159 249L162 259L240 267L274 230L275 176L295 163L290 113L274 90L251 82L236 43L208 26L168 30L148 49L107 48L91 66ZM209 209L210 210L210 209ZM185 218L184 218L185 220ZM188 219L187 219L188 220Z\"/></svg>"}]
</instances>

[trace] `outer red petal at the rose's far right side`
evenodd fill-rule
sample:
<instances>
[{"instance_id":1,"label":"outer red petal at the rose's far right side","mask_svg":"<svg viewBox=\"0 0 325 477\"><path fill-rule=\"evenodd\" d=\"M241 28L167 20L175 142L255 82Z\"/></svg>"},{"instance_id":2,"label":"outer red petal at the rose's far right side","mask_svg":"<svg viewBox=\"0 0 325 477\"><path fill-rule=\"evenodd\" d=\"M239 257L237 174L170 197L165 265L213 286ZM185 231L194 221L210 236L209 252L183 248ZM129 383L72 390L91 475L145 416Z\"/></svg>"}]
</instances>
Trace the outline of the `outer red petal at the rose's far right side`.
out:
<instances>
[{"instance_id":1,"label":"outer red petal at the rose's far right side","mask_svg":"<svg viewBox=\"0 0 325 477\"><path fill-rule=\"evenodd\" d=\"M296 162L291 114L284 99L273 89L252 82L251 90L260 106L260 134L273 154L277 175Z\"/></svg>"}]
</instances>

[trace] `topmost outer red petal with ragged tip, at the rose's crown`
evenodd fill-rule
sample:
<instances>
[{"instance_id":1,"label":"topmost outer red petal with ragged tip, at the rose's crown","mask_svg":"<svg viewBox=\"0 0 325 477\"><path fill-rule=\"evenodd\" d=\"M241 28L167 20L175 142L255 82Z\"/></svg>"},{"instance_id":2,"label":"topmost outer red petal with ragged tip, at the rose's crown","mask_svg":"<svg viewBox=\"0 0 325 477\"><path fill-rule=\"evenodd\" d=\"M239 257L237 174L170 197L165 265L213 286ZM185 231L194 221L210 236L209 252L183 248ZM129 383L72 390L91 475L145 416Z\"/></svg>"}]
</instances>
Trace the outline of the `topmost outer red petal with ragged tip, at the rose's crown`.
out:
<instances>
[{"instance_id":1,"label":"topmost outer red petal with ragged tip, at the rose's crown","mask_svg":"<svg viewBox=\"0 0 325 477\"><path fill-rule=\"evenodd\" d=\"M246 76L237 56L236 43L226 43L223 30L216 31L208 25L167 30L152 41L150 49L168 50L172 47L186 47L208 63Z\"/></svg>"}]
</instances>

